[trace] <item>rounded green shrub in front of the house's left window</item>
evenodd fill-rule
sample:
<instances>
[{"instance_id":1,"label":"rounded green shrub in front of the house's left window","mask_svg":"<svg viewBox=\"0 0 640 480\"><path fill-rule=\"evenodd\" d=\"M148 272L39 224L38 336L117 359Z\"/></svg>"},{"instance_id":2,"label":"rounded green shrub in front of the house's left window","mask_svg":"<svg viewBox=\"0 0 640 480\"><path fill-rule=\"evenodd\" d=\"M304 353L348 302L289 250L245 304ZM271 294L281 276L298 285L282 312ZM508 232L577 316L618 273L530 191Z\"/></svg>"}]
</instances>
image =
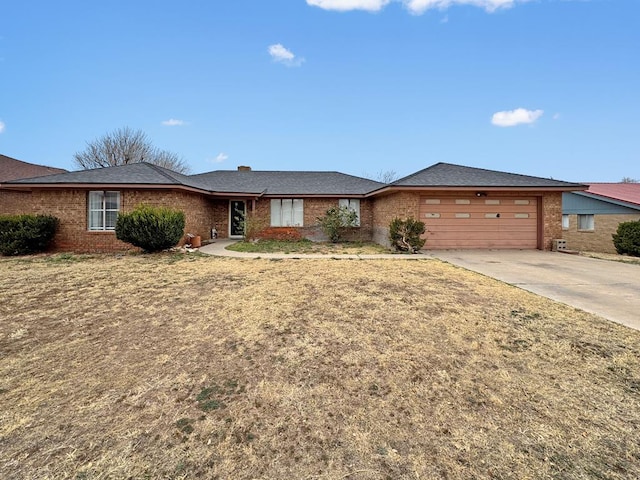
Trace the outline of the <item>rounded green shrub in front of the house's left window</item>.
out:
<instances>
[{"instance_id":1,"label":"rounded green shrub in front of the house's left window","mask_svg":"<svg viewBox=\"0 0 640 480\"><path fill-rule=\"evenodd\" d=\"M118 215L116 238L146 252L159 252L180 241L184 226L184 212L180 210L138 205L134 211Z\"/></svg>"}]
</instances>

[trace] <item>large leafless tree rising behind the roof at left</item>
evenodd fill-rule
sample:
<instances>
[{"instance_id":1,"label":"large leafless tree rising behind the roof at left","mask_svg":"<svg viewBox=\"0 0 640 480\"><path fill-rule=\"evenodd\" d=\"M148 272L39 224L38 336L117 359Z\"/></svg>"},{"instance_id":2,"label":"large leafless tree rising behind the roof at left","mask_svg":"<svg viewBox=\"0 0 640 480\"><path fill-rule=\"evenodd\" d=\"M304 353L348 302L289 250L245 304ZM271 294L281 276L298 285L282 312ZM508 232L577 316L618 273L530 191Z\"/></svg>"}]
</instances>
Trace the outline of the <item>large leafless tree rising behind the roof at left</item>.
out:
<instances>
[{"instance_id":1,"label":"large leafless tree rising behind the roof at left","mask_svg":"<svg viewBox=\"0 0 640 480\"><path fill-rule=\"evenodd\" d=\"M155 147L146 133L129 127L87 142L87 148L76 152L73 159L85 170L148 162L178 173L189 172L188 165L176 153Z\"/></svg>"}]
</instances>

